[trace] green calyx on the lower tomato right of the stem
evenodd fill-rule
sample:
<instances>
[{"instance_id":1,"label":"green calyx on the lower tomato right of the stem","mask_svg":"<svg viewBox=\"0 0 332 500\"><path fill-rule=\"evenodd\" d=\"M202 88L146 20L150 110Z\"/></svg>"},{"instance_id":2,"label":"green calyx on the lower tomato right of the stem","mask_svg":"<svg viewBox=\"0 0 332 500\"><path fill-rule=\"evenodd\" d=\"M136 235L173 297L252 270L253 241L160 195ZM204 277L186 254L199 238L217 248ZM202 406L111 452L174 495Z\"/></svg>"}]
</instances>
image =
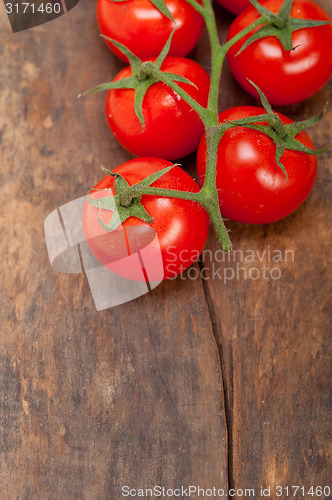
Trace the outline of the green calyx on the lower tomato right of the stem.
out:
<instances>
[{"instance_id":1,"label":"green calyx on the lower tomato right of the stem","mask_svg":"<svg viewBox=\"0 0 332 500\"><path fill-rule=\"evenodd\" d=\"M250 117L250 120L248 119L243 119L243 120L234 120L233 122L228 122L229 125L232 127L236 126L243 126L246 128L250 128L252 130L257 130L258 132L262 132L263 134L267 135L270 137L273 142L275 143L276 146L276 162L278 166L281 168L281 170L284 172L286 180L288 179L287 171L283 164L281 163L280 159L282 155L284 154L286 149L290 149L292 151L300 151L302 153L307 153L309 155L314 155L318 156L326 151L326 149L311 149L302 144L302 142L298 141L295 136L302 132L302 130L311 127L312 125L315 125L315 123L319 122L322 117L325 114L326 107L323 109L323 111L312 118L309 118L308 120L301 120L299 122L294 122L294 123L289 123L284 125L272 108L267 100L265 94L260 90L257 85L255 85L252 81L248 80L251 85L255 87L257 90L260 100L262 103L262 106L264 107L266 111L266 115L262 117L262 121L267 121L268 125L257 125L257 123L248 123L249 121L252 122L252 117Z\"/></svg>"}]
</instances>

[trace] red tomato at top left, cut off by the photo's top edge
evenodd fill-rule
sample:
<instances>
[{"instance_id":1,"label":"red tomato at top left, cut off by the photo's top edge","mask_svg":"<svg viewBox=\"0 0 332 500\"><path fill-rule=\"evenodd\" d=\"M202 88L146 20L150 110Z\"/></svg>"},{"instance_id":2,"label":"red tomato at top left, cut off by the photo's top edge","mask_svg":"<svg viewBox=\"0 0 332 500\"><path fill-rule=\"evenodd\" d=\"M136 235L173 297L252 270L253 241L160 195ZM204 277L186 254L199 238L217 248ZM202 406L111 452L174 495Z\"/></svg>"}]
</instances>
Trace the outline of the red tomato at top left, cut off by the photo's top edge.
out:
<instances>
[{"instance_id":1,"label":"red tomato at top left, cut off by the photo's top edge","mask_svg":"<svg viewBox=\"0 0 332 500\"><path fill-rule=\"evenodd\" d=\"M165 3L178 26L169 55L186 56L201 36L203 19L186 0L166 0ZM140 59L157 57L174 29L173 22L149 0L98 0L97 21L103 35L121 42ZM114 45L106 43L120 59L127 61Z\"/></svg>"}]
</instances>

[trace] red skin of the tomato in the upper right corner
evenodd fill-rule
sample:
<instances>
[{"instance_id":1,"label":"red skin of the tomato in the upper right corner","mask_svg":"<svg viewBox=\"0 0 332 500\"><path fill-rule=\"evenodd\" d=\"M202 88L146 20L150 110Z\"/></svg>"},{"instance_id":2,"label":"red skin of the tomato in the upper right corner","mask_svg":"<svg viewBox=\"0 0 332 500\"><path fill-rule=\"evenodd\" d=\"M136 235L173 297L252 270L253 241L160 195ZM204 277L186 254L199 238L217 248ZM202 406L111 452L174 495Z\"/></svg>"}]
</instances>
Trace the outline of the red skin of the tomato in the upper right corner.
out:
<instances>
[{"instance_id":1,"label":"red skin of the tomato in the upper right corner","mask_svg":"<svg viewBox=\"0 0 332 500\"><path fill-rule=\"evenodd\" d=\"M264 6L276 13L282 3L283 0L267 0ZM259 15L255 8L245 10L233 21L227 39L249 26ZM327 13L310 0L295 0L291 15L302 19L330 20ZM294 32L294 50L285 51L276 37L267 37L256 40L236 56L249 36L230 49L228 63L238 83L251 95L257 97L247 79L256 83L275 105L308 99L328 82L332 74L332 25Z\"/></svg>"}]
</instances>

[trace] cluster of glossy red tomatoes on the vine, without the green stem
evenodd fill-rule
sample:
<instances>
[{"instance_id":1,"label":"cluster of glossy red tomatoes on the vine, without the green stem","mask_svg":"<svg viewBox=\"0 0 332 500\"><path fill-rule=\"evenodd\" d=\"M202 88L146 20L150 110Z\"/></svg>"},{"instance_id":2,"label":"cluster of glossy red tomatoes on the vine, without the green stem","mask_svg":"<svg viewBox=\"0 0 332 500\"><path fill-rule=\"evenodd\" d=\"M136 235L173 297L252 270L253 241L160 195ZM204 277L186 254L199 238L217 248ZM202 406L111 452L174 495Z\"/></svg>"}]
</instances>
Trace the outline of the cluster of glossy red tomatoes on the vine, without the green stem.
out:
<instances>
[{"instance_id":1,"label":"cluster of glossy red tomatoes on the vine, without the green stem","mask_svg":"<svg viewBox=\"0 0 332 500\"><path fill-rule=\"evenodd\" d=\"M276 14L284 1L260 0L260 4ZM202 4L201 0L197 2ZM260 16L249 0L218 2L234 14L240 14L232 23L227 40L249 27ZM100 31L108 37L106 43L110 49L123 61L130 62L130 57L121 50L120 44L130 49L133 57L140 58L142 62L155 61L169 39L175 22L177 29L160 71L172 75L174 81L178 78L178 86L202 107L207 107L209 76L198 63L185 57L199 40L203 19L186 0L165 0L171 18L161 13L156 3L150 0L98 0ZM326 12L311 0L294 0L290 15L293 19L330 20ZM257 87L249 82L252 80L271 103L284 105L307 99L327 83L332 73L330 24L294 30L293 50L285 50L277 36L261 37L244 46L258 29L256 27L248 32L228 52L231 71L246 91L257 97ZM156 80L145 89L140 117L137 114L136 84L125 85L126 82L133 82L136 76L132 64L125 67L114 78L113 87L106 96L106 117L113 135L133 155L141 157L126 162L114 172L132 186L171 165L168 160L177 160L199 146L197 172L203 185L207 146L200 116L177 92L166 83ZM142 84L147 76L151 75L138 75L139 83ZM124 83L125 88L118 88L116 82ZM265 110L261 108L238 106L223 111L219 120L220 123L227 123L264 113ZM281 114L278 117L282 124L292 123ZM314 149L305 132L296 135L296 140L304 148ZM314 185L317 159L303 150L286 149L280 161L287 172L287 181L285 171L276 160L276 144L270 136L244 126L227 130L217 153L216 188L221 214L240 222L265 224L278 221L296 210ZM172 168L151 186L192 193L200 189L179 166ZM108 175L95 189L93 193L109 189L115 195L115 179ZM150 227L155 230L160 243L164 279L171 277L168 257L170 247L177 249L175 265L172 255L172 275L182 272L192 264L192 259L183 260L181 252L194 255L193 250L201 252L205 245L208 233L206 211L196 201L158 195L143 195L140 202L142 210L153 217ZM113 264L110 264L114 257L112 252L116 253L114 246L105 246L101 242L106 240L98 239L105 233L105 228L98 224L101 213L103 210L98 210L87 201L83 229L93 254L114 270ZM123 222L122 227L126 231L129 227L147 225L148 222L131 216ZM121 273L133 279L127 276L125 270Z\"/></svg>"}]
</instances>

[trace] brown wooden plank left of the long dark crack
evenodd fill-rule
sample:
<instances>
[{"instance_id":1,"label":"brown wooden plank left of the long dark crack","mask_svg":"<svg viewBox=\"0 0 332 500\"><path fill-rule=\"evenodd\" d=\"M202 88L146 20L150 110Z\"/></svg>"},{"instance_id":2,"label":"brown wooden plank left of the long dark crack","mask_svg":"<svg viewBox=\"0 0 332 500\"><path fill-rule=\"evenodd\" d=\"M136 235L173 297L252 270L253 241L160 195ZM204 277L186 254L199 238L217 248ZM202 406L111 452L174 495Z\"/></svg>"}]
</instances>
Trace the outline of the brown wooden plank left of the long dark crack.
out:
<instances>
[{"instance_id":1,"label":"brown wooden plank left of the long dark crack","mask_svg":"<svg viewBox=\"0 0 332 500\"><path fill-rule=\"evenodd\" d=\"M57 274L43 221L86 193L112 139L114 76L94 2L13 35L1 9L2 499L115 499L121 486L226 488L217 346L200 282L96 312L82 275ZM193 498L196 498L193 496Z\"/></svg>"}]
</instances>

